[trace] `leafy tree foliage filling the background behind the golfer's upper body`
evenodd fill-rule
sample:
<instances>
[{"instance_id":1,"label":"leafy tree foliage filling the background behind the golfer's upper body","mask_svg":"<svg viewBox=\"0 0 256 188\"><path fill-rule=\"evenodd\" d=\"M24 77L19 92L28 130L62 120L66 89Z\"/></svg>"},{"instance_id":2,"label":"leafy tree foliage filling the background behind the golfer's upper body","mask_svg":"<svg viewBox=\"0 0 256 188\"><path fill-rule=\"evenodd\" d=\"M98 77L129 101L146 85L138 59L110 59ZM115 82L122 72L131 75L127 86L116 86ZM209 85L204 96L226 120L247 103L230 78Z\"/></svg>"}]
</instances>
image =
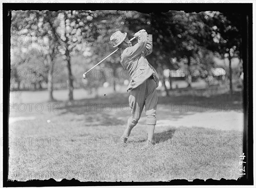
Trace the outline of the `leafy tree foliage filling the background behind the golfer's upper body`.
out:
<instances>
[{"instance_id":1,"label":"leafy tree foliage filling the background behind the golfer's upper body","mask_svg":"<svg viewBox=\"0 0 256 188\"><path fill-rule=\"evenodd\" d=\"M189 73L195 67L211 69L215 67L213 58L216 53L223 58L227 54L232 58L241 58L239 14L183 11L150 14L136 11L13 11L12 38L17 37L19 40L16 43L12 41L12 69L20 69L21 64L26 67L26 62L30 62L32 67L36 68L40 64L45 72L53 74L54 67L58 67L60 74L57 81L49 80L47 76L42 77L42 81L48 83L48 90L52 87L49 87L49 81L50 84L64 82L62 85L69 88L72 100L74 87L97 89L105 81L115 85L123 84L128 79L120 74L113 75L115 69L122 70L119 64L120 52L113 54L94 70L112 70L111 78L105 74L98 78L90 75L84 81L81 75L115 50L110 42L113 32L127 32L128 38L132 38L140 29L153 35L154 49L147 59L160 72L181 68ZM23 43L23 36L31 40ZM64 69L64 66L67 68ZM22 79L15 78L14 82ZM26 82L37 81L41 80L36 78Z\"/></svg>"}]
</instances>

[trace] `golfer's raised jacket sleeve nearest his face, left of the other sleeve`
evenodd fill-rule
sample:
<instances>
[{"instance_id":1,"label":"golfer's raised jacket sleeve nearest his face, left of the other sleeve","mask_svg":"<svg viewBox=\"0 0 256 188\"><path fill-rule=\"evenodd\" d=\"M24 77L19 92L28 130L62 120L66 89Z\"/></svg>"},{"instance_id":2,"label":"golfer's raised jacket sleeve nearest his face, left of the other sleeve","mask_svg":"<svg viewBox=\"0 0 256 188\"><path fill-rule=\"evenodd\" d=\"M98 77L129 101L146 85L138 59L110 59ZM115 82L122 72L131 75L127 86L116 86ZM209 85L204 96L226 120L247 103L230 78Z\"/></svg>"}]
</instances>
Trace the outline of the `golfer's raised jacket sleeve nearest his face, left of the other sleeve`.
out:
<instances>
[{"instance_id":1,"label":"golfer's raised jacket sleeve nearest his face, left of the other sleeve","mask_svg":"<svg viewBox=\"0 0 256 188\"><path fill-rule=\"evenodd\" d=\"M145 49L147 41L148 41L147 33L141 32L140 36L138 37L138 43L135 44L134 46L128 47L127 50L125 50L126 51L125 55L131 59L136 58Z\"/></svg>"}]
</instances>

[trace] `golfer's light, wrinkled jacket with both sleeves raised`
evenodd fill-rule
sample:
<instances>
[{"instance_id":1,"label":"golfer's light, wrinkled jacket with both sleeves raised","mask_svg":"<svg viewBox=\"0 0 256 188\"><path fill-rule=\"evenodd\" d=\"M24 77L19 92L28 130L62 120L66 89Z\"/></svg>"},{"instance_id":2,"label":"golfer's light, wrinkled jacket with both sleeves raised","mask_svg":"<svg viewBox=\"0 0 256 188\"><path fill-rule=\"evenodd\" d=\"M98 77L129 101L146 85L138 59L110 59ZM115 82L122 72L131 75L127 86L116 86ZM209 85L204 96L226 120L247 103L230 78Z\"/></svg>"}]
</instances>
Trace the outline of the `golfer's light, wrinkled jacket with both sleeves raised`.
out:
<instances>
[{"instance_id":1,"label":"golfer's light, wrinkled jacket with both sleeves raised","mask_svg":"<svg viewBox=\"0 0 256 188\"><path fill-rule=\"evenodd\" d=\"M121 49L120 63L129 72L131 81L127 91L138 87L146 79L153 75L154 81L159 84L157 71L152 67L145 56L151 54L153 49L152 35L141 32L138 43L134 46Z\"/></svg>"}]
</instances>

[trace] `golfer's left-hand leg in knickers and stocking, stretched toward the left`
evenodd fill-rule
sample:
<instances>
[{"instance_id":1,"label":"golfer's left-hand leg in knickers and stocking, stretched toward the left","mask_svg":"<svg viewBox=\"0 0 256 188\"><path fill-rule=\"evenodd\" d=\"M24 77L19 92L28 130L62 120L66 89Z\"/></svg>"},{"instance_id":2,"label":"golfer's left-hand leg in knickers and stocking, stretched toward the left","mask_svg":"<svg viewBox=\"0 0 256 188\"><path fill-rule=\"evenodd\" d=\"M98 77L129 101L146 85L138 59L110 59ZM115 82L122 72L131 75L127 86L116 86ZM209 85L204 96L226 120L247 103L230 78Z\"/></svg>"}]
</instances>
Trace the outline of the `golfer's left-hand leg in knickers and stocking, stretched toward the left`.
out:
<instances>
[{"instance_id":1,"label":"golfer's left-hand leg in knickers and stocking, stretched toward the left","mask_svg":"<svg viewBox=\"0 0 256 188\"><path fill-rule=\"evenodd\" d=\"M137 88L131 90L131 95L129 96L131 116L128 119L127 127L122 135L122 138L130 136L131 130L133 129L133 127L137 125L140 119L141 113L143 111L145 93L146 93L146 81L140 86L138 86Z\"/></svg>"}]
</instances>

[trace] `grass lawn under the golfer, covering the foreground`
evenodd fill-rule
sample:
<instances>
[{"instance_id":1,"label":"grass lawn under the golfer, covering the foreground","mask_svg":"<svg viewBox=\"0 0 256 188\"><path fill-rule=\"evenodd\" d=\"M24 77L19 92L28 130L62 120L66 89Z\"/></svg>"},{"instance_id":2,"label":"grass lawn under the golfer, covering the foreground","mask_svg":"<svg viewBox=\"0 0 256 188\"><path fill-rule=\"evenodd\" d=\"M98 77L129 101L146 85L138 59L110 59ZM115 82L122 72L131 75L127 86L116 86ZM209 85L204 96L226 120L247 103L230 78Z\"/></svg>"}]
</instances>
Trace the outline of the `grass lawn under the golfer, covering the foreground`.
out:
<instances>
[{"instance_id":1,"label":"grass lawn under the golfer, covering the foreground","mask_svg":"<svg viewBox=\"0 0 256 188\"><path fill-rule=\"evenodd\" d=\"M227 103L227 98L205 101L212 100L217 106L223 101ZM178 103L204 101L204 98L177 97L172 100ZM241 103L232 103L239 98L230 100L231 111L241 110ZM147 137L145 124L137 124L128 144L121 145L119 136L125 130L130 110L100 111L100 104L117 101L125 103L128 97L113 95L73 104L62 101L56 102L57 107L54 103L41 103L42 112L34 107L31 112L11 112L11 118L24 119L9 125L9 179L168 181L239 178L241 131L157 124L154 147L142 151L140 148ZM169 102L160 98L158 106L161 109ZM97 104L98 111L88 110L88 103ZM126 116L122 117L122 114ZM180 113L179 117L181 115L186 116ZM169 116L176 115L170 113Z\"/></svg>"}]
</instances>

